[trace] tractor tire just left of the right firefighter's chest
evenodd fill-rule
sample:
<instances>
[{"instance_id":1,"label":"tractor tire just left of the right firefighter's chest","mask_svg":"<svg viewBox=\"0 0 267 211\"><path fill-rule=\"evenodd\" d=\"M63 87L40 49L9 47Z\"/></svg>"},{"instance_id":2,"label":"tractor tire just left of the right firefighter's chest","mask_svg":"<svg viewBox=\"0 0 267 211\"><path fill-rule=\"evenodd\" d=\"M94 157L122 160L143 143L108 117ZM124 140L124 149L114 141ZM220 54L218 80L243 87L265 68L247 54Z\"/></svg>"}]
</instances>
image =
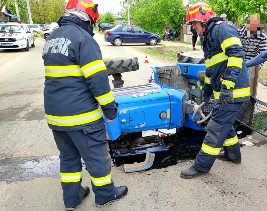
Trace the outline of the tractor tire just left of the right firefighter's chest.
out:
<instances>
[{"instance_id":1,"label":"tractor tire just left of the right firefighter's chest","mask_svg":"<svg viewBox=\"0 0 267 211\"><path fill-rule=\"evenodd\" d=\"M205 64L203 51L178 52L177 63Z\"/></svg>"}]
</instances>

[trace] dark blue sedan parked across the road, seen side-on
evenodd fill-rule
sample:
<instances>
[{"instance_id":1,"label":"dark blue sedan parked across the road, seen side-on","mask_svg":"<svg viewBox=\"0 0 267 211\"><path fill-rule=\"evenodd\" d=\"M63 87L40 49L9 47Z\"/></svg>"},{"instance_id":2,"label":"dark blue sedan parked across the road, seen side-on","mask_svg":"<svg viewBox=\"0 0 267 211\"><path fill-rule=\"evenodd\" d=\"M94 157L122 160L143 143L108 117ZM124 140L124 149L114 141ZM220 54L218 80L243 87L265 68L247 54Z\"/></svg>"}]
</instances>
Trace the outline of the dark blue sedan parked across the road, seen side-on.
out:
<instances>
[{"instance_id":1,"label":"dark blue sedan parked across the road, seen side-on","mask_svg":"<svg viewBox=\"0 0 267 211\"><path fill-rule=\"evenodd\" d=\"M146 43L156 46L158 42L161 42L159 35L147 32L135 25L119 25L106 30L104 40L114 46L121 46L122 43Z\"/></svg>"}]
</instances>

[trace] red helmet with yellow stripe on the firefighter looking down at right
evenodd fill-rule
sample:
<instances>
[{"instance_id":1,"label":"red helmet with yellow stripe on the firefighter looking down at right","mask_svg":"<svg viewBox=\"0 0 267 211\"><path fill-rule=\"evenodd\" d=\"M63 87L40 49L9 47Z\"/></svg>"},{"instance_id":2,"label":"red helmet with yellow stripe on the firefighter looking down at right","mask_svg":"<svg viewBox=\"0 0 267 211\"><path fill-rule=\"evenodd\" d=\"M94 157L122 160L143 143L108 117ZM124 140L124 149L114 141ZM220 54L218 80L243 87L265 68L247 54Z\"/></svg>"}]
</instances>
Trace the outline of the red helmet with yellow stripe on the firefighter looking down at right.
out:
<instances>
[{"instance_id":1,"label":"red helmet with yellow stripe on the firefighter looking down at right","mask_svg":"<svg viewBox=\"0 0 267 211\"><path fill-rule=\"evenodd\" d=\"M208 22L211 17L216 16L209 5L203 2L193 4L186 13L186 24L192 24L192 21Z\"/></svg>"}]
</instances>

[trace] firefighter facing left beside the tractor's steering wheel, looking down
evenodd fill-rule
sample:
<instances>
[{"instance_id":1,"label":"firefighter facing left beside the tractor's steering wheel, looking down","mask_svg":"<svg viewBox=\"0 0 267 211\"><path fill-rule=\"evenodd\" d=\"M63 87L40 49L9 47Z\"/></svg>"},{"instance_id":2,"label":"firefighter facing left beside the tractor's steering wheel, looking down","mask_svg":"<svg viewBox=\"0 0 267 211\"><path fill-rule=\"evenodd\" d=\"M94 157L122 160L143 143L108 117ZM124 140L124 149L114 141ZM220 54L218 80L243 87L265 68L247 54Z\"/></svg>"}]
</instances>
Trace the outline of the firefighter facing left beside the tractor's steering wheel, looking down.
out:
<instances>
[{"instance_id":1,"label":"firefighter facing left beside the tractor's steering wheel, looking down","mask_svg":"<svg viewBox=\"0 0 267 211\"><path fill-rule=\"evenodd\" d=\"M203 40L206 60L203 100L209 103L215 96L207 134L194 164L182 170L182 178L195 178L210 171L216 158L241 163L240 146L234 121L244 101L250 100L250 84L240 34L234 26L224 23L209 5L193 4L187 14L187 24L193 25ZM221 153L221 147L224 153Z\"/></svg>"}]
</instances>

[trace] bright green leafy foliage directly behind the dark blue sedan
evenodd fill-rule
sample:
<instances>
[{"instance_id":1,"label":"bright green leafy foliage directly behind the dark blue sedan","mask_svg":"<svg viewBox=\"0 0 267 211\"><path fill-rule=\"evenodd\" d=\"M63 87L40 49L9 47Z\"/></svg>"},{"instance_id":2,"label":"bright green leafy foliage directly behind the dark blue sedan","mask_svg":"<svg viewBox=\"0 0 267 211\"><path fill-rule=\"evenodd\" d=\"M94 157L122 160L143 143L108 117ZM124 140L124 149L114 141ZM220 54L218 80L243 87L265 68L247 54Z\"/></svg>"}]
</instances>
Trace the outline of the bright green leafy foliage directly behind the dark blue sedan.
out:
<instances>
[{"instance_id":1,"label":"bright green leafy foliage directly behind the dark blue sedan","mask_svg":"<svg viewBox=\"0 0 267 211\"><path fill-rule=\"evenodd\" d=\"M127 11L127 3L123 1L121 5ZM130 14L131 21L147 31L162 35L165 27L170 26L179 36L186 9L183 0L133 0L130 1Z\"/></svg>"}]
</instances>

